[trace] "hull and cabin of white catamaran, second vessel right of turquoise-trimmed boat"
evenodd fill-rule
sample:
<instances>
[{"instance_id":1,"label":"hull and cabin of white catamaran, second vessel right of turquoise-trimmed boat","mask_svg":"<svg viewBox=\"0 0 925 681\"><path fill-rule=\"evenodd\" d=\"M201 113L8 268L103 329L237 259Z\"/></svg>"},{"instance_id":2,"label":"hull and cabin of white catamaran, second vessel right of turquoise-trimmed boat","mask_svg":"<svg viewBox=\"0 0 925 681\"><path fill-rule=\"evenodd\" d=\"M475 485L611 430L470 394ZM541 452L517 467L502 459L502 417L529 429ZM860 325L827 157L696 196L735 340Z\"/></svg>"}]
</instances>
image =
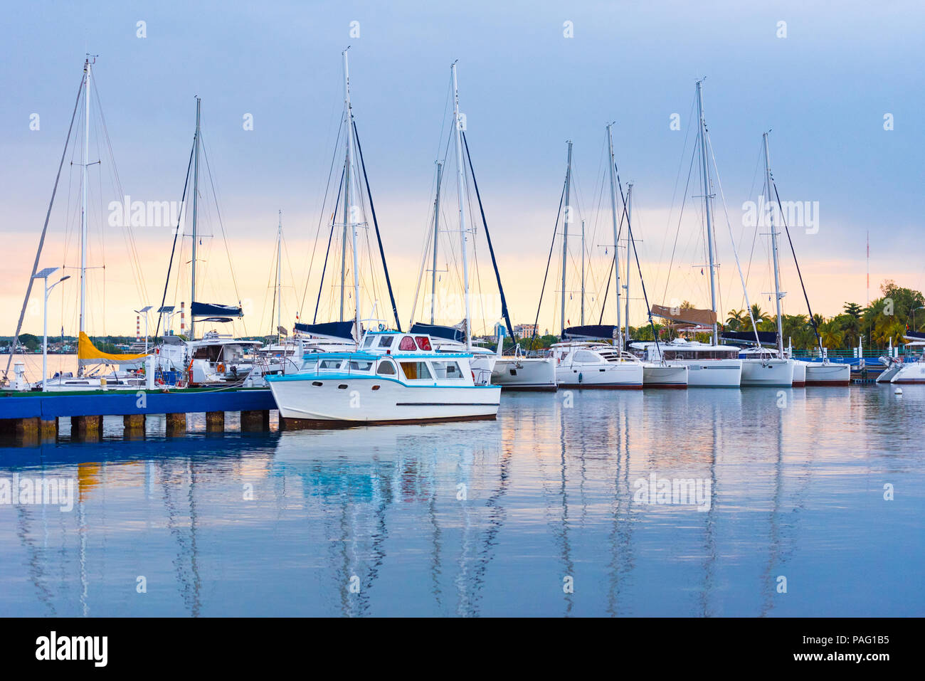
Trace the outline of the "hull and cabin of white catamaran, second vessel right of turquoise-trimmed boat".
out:
<instances>
[{"instance_id":1,"label":"hull and cabin of white catamaran, second vessel right of turquoise-trimmed boat","mask_svg":"<svg viewBox=\"0 0 925 681\"><path fill-rule=\"evenodd\" d=\"M562 388L605 388L641 390L643 365L629 359L606 343L566 341L553 343L550 355L556 361L556 382Z\"/></svg>"}]
</instances>

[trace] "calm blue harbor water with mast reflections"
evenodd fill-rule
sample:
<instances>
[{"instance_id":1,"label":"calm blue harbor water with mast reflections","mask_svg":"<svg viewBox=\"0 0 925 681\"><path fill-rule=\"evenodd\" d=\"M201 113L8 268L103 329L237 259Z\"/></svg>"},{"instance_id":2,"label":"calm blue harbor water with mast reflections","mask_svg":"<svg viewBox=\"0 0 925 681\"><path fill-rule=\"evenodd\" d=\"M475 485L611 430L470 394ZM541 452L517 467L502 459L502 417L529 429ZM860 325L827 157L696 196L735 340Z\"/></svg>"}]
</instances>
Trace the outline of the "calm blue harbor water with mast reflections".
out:
<instances>
[{"instance_id":1,"label":"calm blue harbor water with mast reflections","mask_svg":"<svg viewBox=\"0 0 925 681\"><path fill-rule=\"evenodd\" d=\"M904 390L505 394L497 422L171 439L152 417L144 440L114 419L93 444L65 426L0 449L0 480L75 485L69 512L0 505L0 615L922 615L925 387ZM647 503L652 474L709 495Z\"/></svg>"}]
</instances>

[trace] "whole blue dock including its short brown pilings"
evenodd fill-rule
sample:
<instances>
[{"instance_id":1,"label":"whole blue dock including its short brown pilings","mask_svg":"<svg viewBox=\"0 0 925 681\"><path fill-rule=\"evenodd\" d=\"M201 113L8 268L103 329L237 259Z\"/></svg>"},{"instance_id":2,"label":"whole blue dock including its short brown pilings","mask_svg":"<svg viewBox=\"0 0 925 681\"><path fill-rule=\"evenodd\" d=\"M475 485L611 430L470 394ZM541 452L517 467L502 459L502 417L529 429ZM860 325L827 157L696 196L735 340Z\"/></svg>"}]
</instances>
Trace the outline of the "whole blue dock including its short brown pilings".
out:
<instances>
[{"instance_id":1,"label":"whole blue dock including its short brown pilings","mask_svg":"<svg viewBox=\"0 0 925 681\"><path fill-rule=\"evenodd\" d=\"M273 394L265 388L184 390L74 390L0 392L0 436L22 440L57 437L69 418L71 437L97 440L104 416L122 416L126 435L143 434L148 415L165 415L168 435L186 432L188 414L205 414L207 431L225 429L225 415L240 412L241 430L269 430Z\"/></svg>"}]
</instances>

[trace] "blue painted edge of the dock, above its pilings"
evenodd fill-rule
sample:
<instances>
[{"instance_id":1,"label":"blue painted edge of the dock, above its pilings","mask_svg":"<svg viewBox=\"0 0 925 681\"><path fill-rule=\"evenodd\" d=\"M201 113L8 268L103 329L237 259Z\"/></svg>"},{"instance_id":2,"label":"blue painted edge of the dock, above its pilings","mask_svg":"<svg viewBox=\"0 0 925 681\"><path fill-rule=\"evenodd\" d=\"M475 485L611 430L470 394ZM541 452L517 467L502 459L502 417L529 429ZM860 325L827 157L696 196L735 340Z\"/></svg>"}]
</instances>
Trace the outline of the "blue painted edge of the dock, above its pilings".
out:
<instances>
[{"instance_id":1,"label":"blue painted edge of the dock, above its pilings","mask_svg":"<svg viewBox=\"0 0 925 681\"><path fill-rule=\"evenodd\" d=\"M109 416L243 412L276 409L270 390L93 390L85 392L6 392L0 394L0 419L59 416Z\"/></svg>"}]
</instances>

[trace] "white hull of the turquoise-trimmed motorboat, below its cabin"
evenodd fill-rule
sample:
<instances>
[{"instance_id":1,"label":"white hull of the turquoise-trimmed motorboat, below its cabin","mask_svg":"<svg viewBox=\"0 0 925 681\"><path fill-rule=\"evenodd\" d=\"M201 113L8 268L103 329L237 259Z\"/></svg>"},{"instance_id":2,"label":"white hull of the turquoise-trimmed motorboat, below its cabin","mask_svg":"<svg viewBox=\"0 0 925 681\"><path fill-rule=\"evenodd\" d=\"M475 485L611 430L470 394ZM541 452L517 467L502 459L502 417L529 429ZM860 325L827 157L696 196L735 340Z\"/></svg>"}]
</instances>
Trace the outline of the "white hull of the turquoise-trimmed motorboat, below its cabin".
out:
<instances>
[{"instance_id":1,"label":"white hull of the turquoise-trimmed motorboat, below its cabin","mask_svg":"<svg viewBox=\"0 0 925 681\"><path fill-rule=\"evenodd\" d=\"M501 392L499 386L417 387L372 376L297 374L266 382L280 416L331 424L494 418Z\"/></svg>"}]
</instances>

